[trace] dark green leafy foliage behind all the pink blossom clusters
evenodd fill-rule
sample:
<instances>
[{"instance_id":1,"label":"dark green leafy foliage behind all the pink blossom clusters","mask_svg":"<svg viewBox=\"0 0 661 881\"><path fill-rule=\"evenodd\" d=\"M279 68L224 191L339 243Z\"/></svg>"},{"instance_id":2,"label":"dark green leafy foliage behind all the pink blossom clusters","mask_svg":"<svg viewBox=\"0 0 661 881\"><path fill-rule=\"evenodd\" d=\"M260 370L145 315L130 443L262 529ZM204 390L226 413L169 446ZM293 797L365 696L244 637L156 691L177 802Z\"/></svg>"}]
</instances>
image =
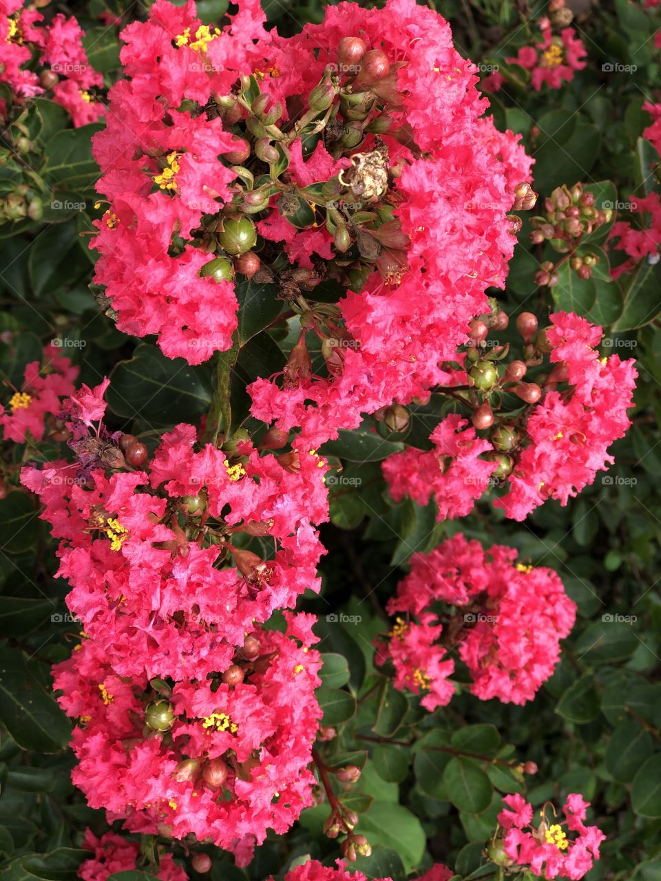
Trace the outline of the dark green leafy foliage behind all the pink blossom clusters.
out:
<instances>
[{"instance_id":1,"label":"dark green leafy foliage behind all the pink blossom clusters","mask_svg":"<svg viewBox=\"0 0 661 881\"><path fill-rule=\"evenodd\" d=\"M198 4L208 20L226 7L222 0ZM317 0L267 0L265 7L282 33L323 16ZM60 8L78 16L90 62L110 85L119 67L116 28L100 26L98 16L109 10L130 20L144 16L144 7L89 0ZM526 17L544 11L539 4L528 9L523 0L446 0L437 8L451 22L457 48L486 66L530 41ZM542 196L576 181L613 202L658 188L651 170L658 157L641 137L649 124L642 102L653 100L659 83L651 42L659 19L652 13L627 0L584 7L575 25L589 65L573 83L553 93L509 85L494 98L499 126L521 132L537 160L534 185ZM636 70L603 70L609 63ZM33 148L19 155L19 129L4 132L0 196L25 181L41 194L45 210L39 221L0 226L2 400L11 396L10 383L20 386L26 363L41 357L43 344L56 337L78 341L80 347L71 344L67 354L79 364L81 380L93 385L111 375L113 427L155 445L163 429L195 422L208 411L212 370L169 361L151 341L118 333L90 292L94 255L79 233L91 230L102 211L93 208L98 170L89 147L98 126L71 130L63 110L43 99L29 105L19 126ZM534 285L544 257L526 247L528 231L524 224L501 295L510 329L523 308L539 315L565 308L604 324L613 351L633 354L638 362L634 426L613 449L616 464L607 476L568 507L547 503L523 524L505 521L485 502L464 522L441 525L431 506L393 506L383 492L379 462L401 441L375 437L371 420L325 449L344 463L347 479L331 486L323 595L306 597L302 607L322 618L319 698L325 724L340 732L326 760L364 768L345 802L360 812L357 831L373 845L373 855L356 863L370 877L397 881L434 860L464 877L493 875L482 848L503 793L525 792L538 808L580 792L608 836L589 881L661 879L661 263L644 263L621 285L606 272L578 283L576 276L563 275L549 293ZM603 252L601 266L607 267ZM241 352L232 381L237 424L248 413L246 383L279 370L292 344L264 331L267 301L264 289L247 285L241 292ZM501 336L514 341L515 333ZM424 444L442 413L433 407L412 412L407 441ZM52 452L4 442L3 468ZM77 877L85 825L105 828L101 812L86 807L69 779L69 723L56 707L48 668L69 655L78 628L66 618L66 586L54 578L54 546L36 513L23 492L0 501L0 878L6 881ZM486 544L516 546L533 564L557 569L578 604L561 663L526 707L463 693L450 707L427 714L417 700L394 692L372 665L371 640L387 629L383 607L412 552L431 549L459 528ZM325 621L340 612L360 621ZM513 772L506 762L515 757L534 761L538 773ZM328 811L327 804L305 811L285 839L273 837L258 848L249 870L236 870L230 858L213 853L212 879L262 881L307 854L334 859L337 845L322 830Z\"/></svg>"}]
</instances>

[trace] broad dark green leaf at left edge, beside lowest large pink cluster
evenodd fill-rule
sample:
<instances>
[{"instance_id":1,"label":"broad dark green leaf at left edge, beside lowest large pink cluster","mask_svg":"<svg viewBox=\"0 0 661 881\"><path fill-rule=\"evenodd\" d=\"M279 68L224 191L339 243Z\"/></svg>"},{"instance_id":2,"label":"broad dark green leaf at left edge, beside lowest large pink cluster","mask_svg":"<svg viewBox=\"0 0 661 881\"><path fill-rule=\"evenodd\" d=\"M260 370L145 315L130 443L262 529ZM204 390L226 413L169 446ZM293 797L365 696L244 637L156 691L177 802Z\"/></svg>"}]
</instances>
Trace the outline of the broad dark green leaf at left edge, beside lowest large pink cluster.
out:
<instances>
[{"instance_id":1,"label":"broad dark green leaf at left edge, beside lowest large pink cluster","mask_svg":"<svg viewBox=\"0 0 661 881\"><path fill-rule=\"evenodd\" d=\"M59 752L69 743L71 724L34 669L19 649L0 647L0 722L23 749Z\"/></svg>"}]
</instances>

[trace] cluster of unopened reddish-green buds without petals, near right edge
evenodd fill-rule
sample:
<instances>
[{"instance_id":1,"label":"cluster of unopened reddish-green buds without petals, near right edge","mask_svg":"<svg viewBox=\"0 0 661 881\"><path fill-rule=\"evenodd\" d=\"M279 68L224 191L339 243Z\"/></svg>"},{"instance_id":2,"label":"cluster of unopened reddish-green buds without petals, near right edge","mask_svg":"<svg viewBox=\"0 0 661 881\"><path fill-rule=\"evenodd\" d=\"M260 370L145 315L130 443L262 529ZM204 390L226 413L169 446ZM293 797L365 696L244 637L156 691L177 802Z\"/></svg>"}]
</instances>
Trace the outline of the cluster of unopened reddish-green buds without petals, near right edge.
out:
<instances>
[{"instance_id":1,"label":"cluster of unopened reddish-green buds without petals, near right edge","mask_svg":"<svg viewBox=\"0 0 661 881\"><path fill-rule=\"evenodd\" d=\"M590 252L576 255L574 252L586 236L613 219L613 210L595 206L595 196L584 191L580 183L569 188L566 184L556 187L544 200L544 214L531 218L531 242L541 245L548 241L561 254L569 254L572 270L579 278L590 278L598 263L598 255ZM538 285L552 287L558 283L558 266L551 261L542 263L535 276Z\"/></svg>"}]
</instances>

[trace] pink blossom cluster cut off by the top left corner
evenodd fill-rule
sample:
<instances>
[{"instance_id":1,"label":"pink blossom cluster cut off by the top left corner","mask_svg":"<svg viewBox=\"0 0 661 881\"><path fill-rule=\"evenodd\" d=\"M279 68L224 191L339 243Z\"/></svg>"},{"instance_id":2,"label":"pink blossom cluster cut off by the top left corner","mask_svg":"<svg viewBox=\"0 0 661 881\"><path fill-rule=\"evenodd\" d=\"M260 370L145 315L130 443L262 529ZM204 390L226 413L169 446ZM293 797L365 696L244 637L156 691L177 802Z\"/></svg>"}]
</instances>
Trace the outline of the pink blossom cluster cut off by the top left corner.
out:
<instances>
[{"instance_id":1,"label":"pink blossom cluster cut off by the top left corner","mask_svg":"<svg viewBox=\"0 0 661 881\"><path fill-rule=\"evenodd\" d=\"M9 87L10 100L23 103L44 95L64 107L76 127L98 120L105 111L98 100L103 78L87 61L78 21L58 12L44 22L24 0L0 0L0 13L0 84ZM40 73L29 67L33 56ZM0 92L0 115L6 111Z\"/></svg>"}]
</instances>

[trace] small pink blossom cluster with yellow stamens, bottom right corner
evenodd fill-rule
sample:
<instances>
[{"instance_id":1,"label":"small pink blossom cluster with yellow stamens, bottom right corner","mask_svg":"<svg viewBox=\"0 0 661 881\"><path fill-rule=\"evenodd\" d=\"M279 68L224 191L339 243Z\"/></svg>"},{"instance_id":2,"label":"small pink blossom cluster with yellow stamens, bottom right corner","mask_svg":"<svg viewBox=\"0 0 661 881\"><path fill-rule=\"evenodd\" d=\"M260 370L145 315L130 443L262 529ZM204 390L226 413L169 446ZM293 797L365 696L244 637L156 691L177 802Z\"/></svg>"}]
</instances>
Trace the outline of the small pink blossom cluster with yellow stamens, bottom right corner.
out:
<instances>
[{"instance_id":1,"label":"small pink blossom cluster with yellow stamens, bottom right corner","mask_svg":"<svg viewBox=\"0 0 661 881\"><path fill-rule=\"evenodd\" d=\"M487 855L506 872L523 868L538 877L579 881L599 859L605 834L596 825L585 825L590 802L577 793L567 796L564 820L557 822L553 804L546 803L538 825L533 825L532 806L523 796L504 796L502 801L506 807L498 815L499 829Z\"/></svg>"}]
</instances>

